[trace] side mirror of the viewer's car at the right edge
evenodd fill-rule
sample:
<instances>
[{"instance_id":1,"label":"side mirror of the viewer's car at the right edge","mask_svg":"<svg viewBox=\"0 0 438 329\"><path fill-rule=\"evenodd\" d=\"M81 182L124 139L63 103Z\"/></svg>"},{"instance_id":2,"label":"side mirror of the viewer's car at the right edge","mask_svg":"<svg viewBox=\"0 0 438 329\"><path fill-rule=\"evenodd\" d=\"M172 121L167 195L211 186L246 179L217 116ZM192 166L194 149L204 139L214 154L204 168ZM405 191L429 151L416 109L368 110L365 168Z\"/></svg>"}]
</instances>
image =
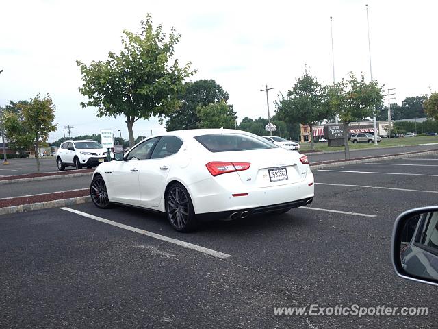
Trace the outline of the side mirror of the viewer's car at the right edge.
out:
<instances>
[{"instance_id":1,"label":"side mirror of the viewer's car at the right edge","mask_svg":"<svg viewBox=\"0 0 438 329\"><path fill-rule=\"evenodd\" d=\"M438 286L438 206L411 209L398 216L391 249L398 276Z\"/></svg>"}]
</instances>

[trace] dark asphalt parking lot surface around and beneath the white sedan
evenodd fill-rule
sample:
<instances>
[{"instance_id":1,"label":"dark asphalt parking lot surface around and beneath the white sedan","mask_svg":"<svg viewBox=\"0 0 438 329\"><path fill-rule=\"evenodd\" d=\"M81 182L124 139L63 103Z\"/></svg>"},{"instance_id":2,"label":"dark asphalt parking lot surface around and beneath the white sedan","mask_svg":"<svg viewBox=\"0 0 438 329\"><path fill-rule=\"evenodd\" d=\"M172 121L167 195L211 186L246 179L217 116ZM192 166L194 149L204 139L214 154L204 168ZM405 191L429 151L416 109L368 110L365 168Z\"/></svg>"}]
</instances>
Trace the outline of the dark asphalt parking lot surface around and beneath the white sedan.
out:
<instances>
[{"instance_id":1,"label":"dark asphalt parking lot surface around and beneath the white sedan","mask_svg":"<svg viewBox=\"0 0 438 329\"><path fill-rule=\"evenodd\" d=\"M438 156L313 173L309 207L190 234L123 206L0 216L0 328L437 328L437 289L398 278L390 243L400 212L438 204ZM273 311L311 304L427 306L429 315Z\"/></svg>"}]
</instances>

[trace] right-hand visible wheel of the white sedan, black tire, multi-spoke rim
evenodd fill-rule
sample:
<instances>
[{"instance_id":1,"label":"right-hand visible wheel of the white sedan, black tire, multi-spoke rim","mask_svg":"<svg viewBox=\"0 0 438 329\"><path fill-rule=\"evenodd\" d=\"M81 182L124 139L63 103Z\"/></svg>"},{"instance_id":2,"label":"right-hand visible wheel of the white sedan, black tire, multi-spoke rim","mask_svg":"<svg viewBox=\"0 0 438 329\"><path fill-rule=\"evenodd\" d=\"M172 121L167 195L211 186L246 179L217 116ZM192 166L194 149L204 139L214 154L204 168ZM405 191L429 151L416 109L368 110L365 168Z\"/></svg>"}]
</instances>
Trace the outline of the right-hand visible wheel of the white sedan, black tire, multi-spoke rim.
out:
<instances>
[{"instance_id":1,"label":"right-hand visible wheel of the white sedan, black tire, multi-spoke rim","mask_svg":"<svg viewBox=\"0 0 438 329\"><path fill-rule=\"evenodd\" d=\"M192 199L182 184L174 183L164 196L166 217L175 230L191 232L196 229L198 222L194 213Z\"/></svg>"}]
</instances>

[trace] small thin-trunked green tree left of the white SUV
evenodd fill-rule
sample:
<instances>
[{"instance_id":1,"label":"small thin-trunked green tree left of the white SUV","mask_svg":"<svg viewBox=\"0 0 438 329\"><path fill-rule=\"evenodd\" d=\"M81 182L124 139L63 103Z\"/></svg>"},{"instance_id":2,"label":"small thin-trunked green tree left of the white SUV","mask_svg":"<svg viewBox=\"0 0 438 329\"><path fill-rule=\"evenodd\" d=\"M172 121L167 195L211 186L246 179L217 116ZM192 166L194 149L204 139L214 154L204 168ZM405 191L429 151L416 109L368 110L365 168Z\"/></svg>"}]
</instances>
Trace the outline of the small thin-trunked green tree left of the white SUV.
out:
<instances>
[{"instance_id":1,"label":"small thin-trunked green tree left of the white SUV","mask_svg":"<svg viewBox=\"0 0 438 329\"><path fill-rule=\"evenodd\" d=\"M38 93L31 99L30 103L23 106L23 117L30 136L35 141L36 168L40 171L40 143L44 143L49 138L49 134L56 130L55 105L49 94L41 99Z\"/></svg>"}]
</instances>

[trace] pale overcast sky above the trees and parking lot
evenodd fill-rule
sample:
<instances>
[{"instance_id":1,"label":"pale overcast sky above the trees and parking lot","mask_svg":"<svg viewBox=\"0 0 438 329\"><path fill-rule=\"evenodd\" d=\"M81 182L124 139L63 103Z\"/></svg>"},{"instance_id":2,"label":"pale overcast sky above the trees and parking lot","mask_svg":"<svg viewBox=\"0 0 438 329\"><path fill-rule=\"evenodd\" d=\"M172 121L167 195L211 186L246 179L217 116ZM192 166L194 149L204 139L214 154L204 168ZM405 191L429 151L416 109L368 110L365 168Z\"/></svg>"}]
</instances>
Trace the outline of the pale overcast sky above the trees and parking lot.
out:
<instances>
[{"instance_id":1,"label":"pale overcast sky above the trees and parking lot","mask_svg":"<svg viewBox=\"0 0 438 329\"><path fill-rule=\"evenodd\" d=\"M191 61L192 80L214 79L244 117L267 117L263 84L274 99L305 71L333 81L330 16L333 16L335 76L349 71L370 79L365 3L369 5L372 71L396 100L438 89L438 1L3 1L0 20L0 106L10 99L49 93L58 130L73 125L73 136L110 128L127 136L125 119L96 118L81 108L81 76L75 60L89 64L120 50L123 29L138 32L151 13L164 31L182 38L176 58ZM156 119L139 120L135 136L162 132Z\"/></svg>"}]
</instances>

